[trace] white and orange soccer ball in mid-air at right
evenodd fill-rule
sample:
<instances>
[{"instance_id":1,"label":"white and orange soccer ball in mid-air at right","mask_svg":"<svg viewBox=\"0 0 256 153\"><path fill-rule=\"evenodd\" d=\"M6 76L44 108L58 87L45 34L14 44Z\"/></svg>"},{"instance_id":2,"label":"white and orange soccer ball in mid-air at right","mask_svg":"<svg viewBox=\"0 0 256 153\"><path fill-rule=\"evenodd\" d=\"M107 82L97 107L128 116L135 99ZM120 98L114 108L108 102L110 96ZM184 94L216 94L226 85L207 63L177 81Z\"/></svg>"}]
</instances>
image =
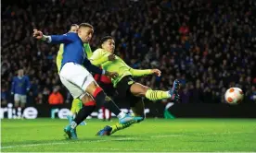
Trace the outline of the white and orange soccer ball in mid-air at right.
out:
<instances>
[{"instance_id":1,"label":"white and orange soccer ball in mid-air at right","mask_svg":"<svg viewBox=\"0 0 256 153\"><path fill-rule=\"evenodd\" d=\"M229 104L238 104L244 98L241 88L228 88L224 94L224 100Z\"/></svg>"}]
</instances>

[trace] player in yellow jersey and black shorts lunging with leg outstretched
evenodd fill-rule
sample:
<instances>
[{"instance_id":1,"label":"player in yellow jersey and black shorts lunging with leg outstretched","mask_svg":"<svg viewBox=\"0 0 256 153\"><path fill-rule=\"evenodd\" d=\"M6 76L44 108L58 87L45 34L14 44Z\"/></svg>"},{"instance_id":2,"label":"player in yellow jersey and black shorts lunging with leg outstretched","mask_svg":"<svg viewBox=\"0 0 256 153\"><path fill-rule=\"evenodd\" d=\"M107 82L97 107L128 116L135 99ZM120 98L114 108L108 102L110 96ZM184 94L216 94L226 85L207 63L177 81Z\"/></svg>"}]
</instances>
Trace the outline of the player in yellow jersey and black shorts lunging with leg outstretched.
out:
<instances>
[{"instance_id":1,"label":"player in yellow jersey and black shorts lunging with leg outstretched","mask_svg":"<svg viewBox=\"0 0 256 153\"><path fill-rule=\"evenodd\" d=\"M93 55L89 58L91 63L96 66L101 66L106 71L115 71L118 76L111 78L114 88L118 92L118 96L114 98L115 101L129 100L132 111L135 116L145 118L144 114L144 102L141 97L145 97L148 100L162 100L172 99L178 100L178 80L174 80L173 88L169 91L153 90L141 85L133 80L134 76L147 76L158 75L160 76L159 69L134 69L129 65L126 65L123 60L115 55L113 60L108 60L109 55L113 55L115 50L115 41L111 36L107 36L101 39L101 48L97 49ZM105 126L100 130L97 135L111 135L118 130L124 129L130 126L130 123L114 124L112 126Z\"/></svg>"}]
</instances>

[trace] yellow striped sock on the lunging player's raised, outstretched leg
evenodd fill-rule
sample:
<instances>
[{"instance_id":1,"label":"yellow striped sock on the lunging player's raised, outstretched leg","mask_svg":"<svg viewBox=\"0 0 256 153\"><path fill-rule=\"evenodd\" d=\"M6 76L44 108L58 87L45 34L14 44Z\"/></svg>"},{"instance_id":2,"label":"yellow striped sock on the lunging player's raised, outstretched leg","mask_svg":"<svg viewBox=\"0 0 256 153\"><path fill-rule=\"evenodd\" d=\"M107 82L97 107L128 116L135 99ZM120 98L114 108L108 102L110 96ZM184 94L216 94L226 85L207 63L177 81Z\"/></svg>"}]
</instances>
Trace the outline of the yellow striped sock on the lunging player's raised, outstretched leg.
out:
<instances>
[{"instance_id":1,"label":"yellow striped sock on the lunging player's raised, outstretched leg","mask_svg":"<svg viewBox=\"0 0 256 153\"><path fill-rule=\"evenodd\" d=\"M146 98L148 100L162 100L170 98L168 91L147 89Z\"/></svg>"}]
</instances>

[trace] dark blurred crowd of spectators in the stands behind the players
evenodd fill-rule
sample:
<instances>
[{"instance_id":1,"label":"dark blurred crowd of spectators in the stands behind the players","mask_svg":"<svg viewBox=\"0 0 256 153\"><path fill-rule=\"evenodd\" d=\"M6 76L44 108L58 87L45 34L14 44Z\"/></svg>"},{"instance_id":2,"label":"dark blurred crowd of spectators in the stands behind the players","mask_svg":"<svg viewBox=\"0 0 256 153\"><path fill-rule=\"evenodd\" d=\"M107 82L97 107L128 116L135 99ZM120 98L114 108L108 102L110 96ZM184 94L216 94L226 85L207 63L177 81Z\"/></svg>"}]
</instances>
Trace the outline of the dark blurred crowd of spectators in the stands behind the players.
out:
<instances>
[{"instance_id":1,"label":"dark blurred crowd of spectators in the stands behind the players","mask_svg":"<svg viewBox=\"0 0 256 153\"><path fill-rule=\"evenodd\" d=\"M179 102L224 102L227 88L242 88L256 102L256 1L254 0L22 0L2 2L1 100L11 100L13 76L23 68L28 100L45 103L52 92L70 93L58 78L58 45L32 38L32 29L66 33L73 23L95 28L91 48L112 35L116 53L134 68L162 76L136 80L167 90L178 78Z\"/></svg>"}]
</instances>

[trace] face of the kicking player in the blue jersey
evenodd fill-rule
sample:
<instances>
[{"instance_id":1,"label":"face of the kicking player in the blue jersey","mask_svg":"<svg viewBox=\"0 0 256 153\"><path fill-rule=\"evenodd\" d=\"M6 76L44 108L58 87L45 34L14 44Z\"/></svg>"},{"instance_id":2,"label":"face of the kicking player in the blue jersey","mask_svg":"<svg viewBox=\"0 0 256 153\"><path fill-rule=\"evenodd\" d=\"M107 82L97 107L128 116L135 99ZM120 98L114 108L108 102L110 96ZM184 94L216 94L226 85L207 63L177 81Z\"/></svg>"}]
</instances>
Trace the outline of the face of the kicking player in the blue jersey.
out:
<instances>
[{"instance_id":1,"label":"face of the kicking player in the blue jersey","mask_svg":"<svg viewBox=\"0 0 256 153\"><path fill-rule=\"evenodd\" d=\"M81 27L80 29L78 29L78 35L83 41L83 43L89 42L92 39L93 34L94 29L91 29L89 27Z\"/></svg>"}]
</instances>

